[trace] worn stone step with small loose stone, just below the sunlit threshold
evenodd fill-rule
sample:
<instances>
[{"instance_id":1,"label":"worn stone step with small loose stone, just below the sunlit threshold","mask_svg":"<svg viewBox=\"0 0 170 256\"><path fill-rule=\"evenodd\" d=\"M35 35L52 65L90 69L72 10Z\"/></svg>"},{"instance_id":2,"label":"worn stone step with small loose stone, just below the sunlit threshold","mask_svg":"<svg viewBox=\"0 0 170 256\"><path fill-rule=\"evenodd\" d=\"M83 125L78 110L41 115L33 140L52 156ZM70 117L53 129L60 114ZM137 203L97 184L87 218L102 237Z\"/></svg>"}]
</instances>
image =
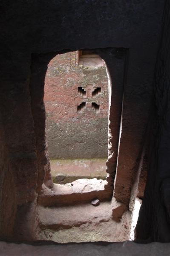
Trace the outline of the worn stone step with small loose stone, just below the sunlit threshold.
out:
<instances>
[{"instance_id":1,"label":"worn stone step with small loose stone, just below the sunlit threshold","mask_svg":"<svg viewBox=\"0 0 170 256\"><path fill-rule=\"evenodd\" d=\"M68 229L86 223L107 222L112 219L110 202L101 202L98 206L90 203L65 207L38 207L40 227L47 229Z\"/></svg>"}]
</instances>

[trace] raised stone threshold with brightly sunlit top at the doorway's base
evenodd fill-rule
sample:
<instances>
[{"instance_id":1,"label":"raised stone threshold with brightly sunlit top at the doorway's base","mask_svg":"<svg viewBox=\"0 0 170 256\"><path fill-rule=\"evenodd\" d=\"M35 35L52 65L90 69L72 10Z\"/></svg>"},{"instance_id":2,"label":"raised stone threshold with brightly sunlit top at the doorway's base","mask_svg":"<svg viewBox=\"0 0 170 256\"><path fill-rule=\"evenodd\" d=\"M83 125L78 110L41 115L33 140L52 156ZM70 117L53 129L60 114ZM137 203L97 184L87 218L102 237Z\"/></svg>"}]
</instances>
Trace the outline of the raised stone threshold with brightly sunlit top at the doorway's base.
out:
<instances>
[{"instance_id":1,"label":"raised stone threshold with brightly sunlit top at the doorway's base","mask_svg":"<svg viewBox=\"0 0 170 256\"><path fill-rule=\"evenodd\" d=\"M93 178L79 179L64 185L54 184L52 189L44 184L37 202L44 207L73 205L80 202L92 201L98 198L100 201L112 198L112 187L107 186L107 180Z\"/></svg>"}]
</instances>

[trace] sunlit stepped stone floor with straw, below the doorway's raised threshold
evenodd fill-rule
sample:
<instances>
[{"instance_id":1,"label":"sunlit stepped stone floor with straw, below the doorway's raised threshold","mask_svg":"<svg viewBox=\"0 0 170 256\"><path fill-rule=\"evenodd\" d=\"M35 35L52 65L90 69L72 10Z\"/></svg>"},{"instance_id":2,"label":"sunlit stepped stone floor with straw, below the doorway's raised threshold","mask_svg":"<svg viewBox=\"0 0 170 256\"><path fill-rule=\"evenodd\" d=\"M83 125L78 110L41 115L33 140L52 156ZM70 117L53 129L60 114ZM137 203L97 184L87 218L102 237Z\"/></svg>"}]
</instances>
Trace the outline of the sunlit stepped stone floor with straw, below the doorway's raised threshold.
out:
<instances>
[{"instance_id":1,"label":"sunlit stepped stone floor with straw, below the doorway's raised threshold","mask_svg":"<svg viewBox=\"0 0 170 256\"><path fill-rule=\"evenodd\" d=\"M113 201L93 206L90 202L63 207L38 207L37 240L59 243L89 241L126 241L130 234L129 211L121 221L112 219Z\"/></svg>"}]
</instances>

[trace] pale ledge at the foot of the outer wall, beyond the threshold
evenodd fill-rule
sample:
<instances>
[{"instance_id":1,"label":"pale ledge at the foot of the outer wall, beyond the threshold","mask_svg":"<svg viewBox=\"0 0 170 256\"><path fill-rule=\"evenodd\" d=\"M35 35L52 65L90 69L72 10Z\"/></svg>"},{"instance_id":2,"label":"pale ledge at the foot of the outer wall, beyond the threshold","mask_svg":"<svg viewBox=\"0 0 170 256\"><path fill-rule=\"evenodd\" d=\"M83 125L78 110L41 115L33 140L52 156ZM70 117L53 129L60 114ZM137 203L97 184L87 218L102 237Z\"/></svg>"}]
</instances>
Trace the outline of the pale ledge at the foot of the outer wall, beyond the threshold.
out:
<instances>
[{"instance_id":1,"label":"pale ledge at the foot of the outer wall, beyond the threshold","mask_svg":"<svg viewBox=\"0 0 170 256\"><path fill-rule=\"evenodd\" d=\"M54 183L66 184L77 179L106 179L106 158L50 160Z\"/></svg>"}]
</instances>

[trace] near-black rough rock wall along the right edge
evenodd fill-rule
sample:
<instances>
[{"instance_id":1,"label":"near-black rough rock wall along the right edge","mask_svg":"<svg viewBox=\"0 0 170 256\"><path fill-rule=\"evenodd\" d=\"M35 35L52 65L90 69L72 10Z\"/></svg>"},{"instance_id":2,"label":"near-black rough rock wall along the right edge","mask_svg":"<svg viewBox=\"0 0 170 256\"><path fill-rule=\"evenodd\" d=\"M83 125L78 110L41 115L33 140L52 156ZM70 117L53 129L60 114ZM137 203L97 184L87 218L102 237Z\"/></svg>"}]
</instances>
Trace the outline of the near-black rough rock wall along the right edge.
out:
<instances>
[{"instance_id":1,"label":"near-black rough rock wall along the right edge","mask_svg":"<svg viewBox=\"0 0 170 256\"><path fill-rule=\"evenodd\" d=\"M136 238L170 242L170 1L164 10L150 121L149 172Z\"/></svg>"}]
</instances>

